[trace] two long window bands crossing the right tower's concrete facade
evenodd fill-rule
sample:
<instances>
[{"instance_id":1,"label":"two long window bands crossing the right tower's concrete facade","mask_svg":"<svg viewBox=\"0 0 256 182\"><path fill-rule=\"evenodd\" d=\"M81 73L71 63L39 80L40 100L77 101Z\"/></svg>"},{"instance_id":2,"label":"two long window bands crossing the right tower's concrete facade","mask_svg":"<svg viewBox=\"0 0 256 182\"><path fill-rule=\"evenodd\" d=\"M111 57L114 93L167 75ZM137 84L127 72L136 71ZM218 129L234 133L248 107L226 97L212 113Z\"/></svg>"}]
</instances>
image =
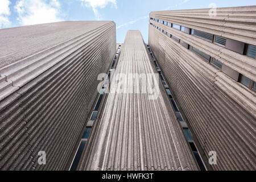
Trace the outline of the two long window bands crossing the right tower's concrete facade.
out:
<instances>
[{"instance_id":1,"label":"two long window bands crossing the right tower's concrete facade","mask_svg":"<svg viewBox=\"0 0 256 182\"><path fill-rule=\"evenodd\" d=\"M153 19L153 20L155 20L156 22L159 22L158 19ZM170 22L166 22L166 23L163 22L163 24L167 24L167 26L169 25L170 27L175 28L180 31L183 31L186 34L198 36L199 38L203 38L212 43L216 43L218 45L225 46L225 48L231 49L234 52L242 53L243 55L247 55L247 56L250 56L253 58L255 58L255 56L256 56L256 46L241 43L241 42L238 42L237 40L223 38L221 36L216 36L213 34L209 34L207 32L198 31L198 30L191 29L188 27L183 27L178 24L173 24ZM222 67L223 67L222 63L220 61L218 61L217 59L215 59L214 57L210 57L206 53L199 51L199 49L196 49L196 48L188 45L184 41L180 40L179 38L176 38L175 36L171 35L167 31L164 31L162 28L156 26L155 24L151 23L151 25L158 28L158 30L160 30L161 32L166 34L171 39L175 40L175 42L180 43L183 47L190 49L191 51L195 52L197 55L199 55L199 56L203 57L205 60L209 61L209 63L212 63L214 66L218 67L219 69L222 69ZM236 80L238 82L241 82L241 84L245 85L247 88L254 90L256 92L256 89L255 89L256 83L253 80L250 80L249 78L243 76L241 73L238 73L238 72L234 71L233 69L228 68L226 66L225 66L225 69L222 69L222 72L226 73L226 75L232 77L234 80Z\"/></svg>"}]
</instances>

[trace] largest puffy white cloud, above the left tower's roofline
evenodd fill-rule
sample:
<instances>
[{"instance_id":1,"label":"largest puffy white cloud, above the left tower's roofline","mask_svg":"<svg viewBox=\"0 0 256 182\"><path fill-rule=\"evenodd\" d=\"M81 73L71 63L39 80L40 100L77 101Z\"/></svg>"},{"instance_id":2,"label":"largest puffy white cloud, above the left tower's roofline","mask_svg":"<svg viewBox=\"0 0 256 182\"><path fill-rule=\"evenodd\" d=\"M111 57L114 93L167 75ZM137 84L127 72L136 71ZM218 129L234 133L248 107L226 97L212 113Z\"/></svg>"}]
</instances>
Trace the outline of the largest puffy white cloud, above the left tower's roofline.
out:
<instances>
[{"instance_id":1,"label":"largest puffy white cloud, above the left tower's roofline","mask_svg":"<svg viewBox=\"0 0 256 182\"><path fill-rule=\"evenodd\" d=\"M62 20L58 0L19 0L14 8L18 13L19 24L23 26Z\"/></svg>"}]
</instances>

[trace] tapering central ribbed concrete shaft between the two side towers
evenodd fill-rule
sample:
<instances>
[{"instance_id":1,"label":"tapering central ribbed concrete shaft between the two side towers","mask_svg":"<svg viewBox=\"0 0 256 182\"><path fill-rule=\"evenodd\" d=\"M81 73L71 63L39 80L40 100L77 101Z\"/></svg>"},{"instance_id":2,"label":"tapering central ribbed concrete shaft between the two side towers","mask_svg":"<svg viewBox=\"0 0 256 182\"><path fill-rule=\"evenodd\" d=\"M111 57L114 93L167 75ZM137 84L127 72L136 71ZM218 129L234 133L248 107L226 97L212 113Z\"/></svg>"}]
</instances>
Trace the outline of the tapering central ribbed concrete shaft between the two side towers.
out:
<instances>
[{"instance_id":1,"label":"tapering central ribbed concrete shaft between the two side towers","mask_svg":"<svg viewBox=\"0 0 256 182\"><path fill-rule=\"evenodd\" d=\"M156 73L139 31L127 32L117 73ZM159 82L160 94L156 100L149 100L148 93L108 94L79 170L198 169L175 111ZM146 88L145 82L129 87L131 90L142 88Z\"/></svg>"}]
</instances>

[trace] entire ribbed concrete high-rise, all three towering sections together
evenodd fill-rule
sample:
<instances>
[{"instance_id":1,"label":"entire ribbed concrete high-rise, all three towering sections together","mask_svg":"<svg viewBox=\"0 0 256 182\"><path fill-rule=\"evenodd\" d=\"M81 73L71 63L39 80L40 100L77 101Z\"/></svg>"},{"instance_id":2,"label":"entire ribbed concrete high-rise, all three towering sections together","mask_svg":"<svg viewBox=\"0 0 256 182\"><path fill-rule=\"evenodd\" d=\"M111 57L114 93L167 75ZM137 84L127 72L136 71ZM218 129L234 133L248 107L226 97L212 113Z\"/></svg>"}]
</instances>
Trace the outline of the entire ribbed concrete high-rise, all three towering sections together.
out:
<instances>
[{"instance_id":1,"label":"entire ribbed concrete high-rise, all three towering sections together","mask_svg":"<svg viewBox=\"0 0 256 182\"><path fill-rule=\"evenodd\" d=\"M0 30L0 170L255 170L256 6L149 23Z\"/></svg>"}]
</instances>

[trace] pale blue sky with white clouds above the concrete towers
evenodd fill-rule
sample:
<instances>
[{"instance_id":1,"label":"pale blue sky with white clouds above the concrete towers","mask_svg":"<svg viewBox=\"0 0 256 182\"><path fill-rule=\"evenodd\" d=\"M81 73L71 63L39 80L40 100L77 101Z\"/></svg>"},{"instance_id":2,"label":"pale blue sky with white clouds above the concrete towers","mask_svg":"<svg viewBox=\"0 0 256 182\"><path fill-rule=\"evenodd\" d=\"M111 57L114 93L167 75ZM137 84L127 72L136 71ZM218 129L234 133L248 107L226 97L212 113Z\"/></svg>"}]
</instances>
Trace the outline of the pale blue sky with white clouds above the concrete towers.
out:
<instances>
[{"instance_id":1,"label":"pale blue sky with white clouds above the concrete towers","mask_svg":"<svg viewBox=\"0 0 256 182\"><path fill-rule=\"evenodd\" d=\"M113 20L117 43L123 43L128 30L140 30L147 43L151 11L255 4L255 0L0 0L0 28L65 20Z\"/></svg>"}]
</instances>

